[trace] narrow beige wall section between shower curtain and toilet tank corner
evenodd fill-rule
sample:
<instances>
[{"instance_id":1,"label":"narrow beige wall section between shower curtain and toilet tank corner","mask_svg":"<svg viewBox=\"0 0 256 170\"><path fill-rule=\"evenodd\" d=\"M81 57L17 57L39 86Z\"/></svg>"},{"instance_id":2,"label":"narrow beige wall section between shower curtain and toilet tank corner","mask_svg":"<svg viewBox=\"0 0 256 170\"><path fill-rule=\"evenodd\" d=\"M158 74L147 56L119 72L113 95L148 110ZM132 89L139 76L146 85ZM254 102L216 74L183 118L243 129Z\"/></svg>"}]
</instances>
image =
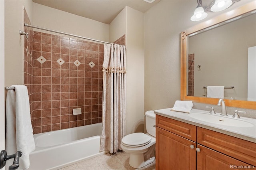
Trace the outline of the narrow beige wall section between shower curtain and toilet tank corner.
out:
<instances>
[{"instance_id":1,"label":"narrow beige wall section between shower curtain and toilet tank corner","mask_svg":"<svg viewBox=\"0 0 256 170\"><path fill-rule=\"evenodd\" d=\"M127 7L126 132L144 131L144 14Z\"/></svg>"}]
</instances>

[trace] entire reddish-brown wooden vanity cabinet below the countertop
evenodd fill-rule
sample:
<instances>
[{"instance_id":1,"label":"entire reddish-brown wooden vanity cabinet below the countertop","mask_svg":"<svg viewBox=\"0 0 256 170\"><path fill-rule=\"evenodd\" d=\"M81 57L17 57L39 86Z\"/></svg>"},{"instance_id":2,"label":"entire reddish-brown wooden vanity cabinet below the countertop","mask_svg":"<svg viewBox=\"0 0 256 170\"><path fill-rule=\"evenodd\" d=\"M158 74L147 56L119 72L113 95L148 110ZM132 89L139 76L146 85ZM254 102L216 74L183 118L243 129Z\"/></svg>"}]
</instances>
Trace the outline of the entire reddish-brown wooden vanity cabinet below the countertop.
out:
<instances>
[{"instance_id":1,"label":"entire reddish-brown wooden vanity cabinet below the countertop","mask_svg":"<svg viewBox=\"0 0 256 170\"><path fill-rule=\"evenodd\" d=\"M256 143L156 115L156 170L250 169L251 165L256 167Z\"/></svg>"}]
</instances>

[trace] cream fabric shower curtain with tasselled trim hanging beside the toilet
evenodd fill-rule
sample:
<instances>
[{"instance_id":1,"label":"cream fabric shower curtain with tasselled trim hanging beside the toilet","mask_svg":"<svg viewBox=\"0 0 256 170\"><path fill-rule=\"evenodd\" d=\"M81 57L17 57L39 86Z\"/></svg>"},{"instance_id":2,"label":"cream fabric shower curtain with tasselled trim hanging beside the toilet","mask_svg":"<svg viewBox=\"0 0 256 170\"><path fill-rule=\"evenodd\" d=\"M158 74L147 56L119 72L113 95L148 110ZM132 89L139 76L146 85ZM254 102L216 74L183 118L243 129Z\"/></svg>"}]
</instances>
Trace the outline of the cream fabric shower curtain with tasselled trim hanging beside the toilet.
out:
<instances>
[{"instance_id":1,"label":"cream fabric shower curtain with tasselled trim hanging beside the toilet","mask_svg":"<svg viewBox=\"0 0 256 170\"><path fill-rule=\"evenodd\" d=\"M124 45L104 44L102 134L100 151L117 152L126 135L126 51Z\"/></svg>"}]
</instances>

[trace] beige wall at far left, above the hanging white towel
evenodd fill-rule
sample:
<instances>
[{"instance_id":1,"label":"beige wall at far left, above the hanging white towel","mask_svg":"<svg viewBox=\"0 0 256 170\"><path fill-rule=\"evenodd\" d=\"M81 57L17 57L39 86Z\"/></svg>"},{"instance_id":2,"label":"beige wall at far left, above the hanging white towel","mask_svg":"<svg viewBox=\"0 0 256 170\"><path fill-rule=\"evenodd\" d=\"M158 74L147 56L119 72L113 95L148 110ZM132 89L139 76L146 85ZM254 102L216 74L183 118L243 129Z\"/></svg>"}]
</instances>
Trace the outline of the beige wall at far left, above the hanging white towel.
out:
<instances>
[{"instance_id":1,"label":"beige wall at far left, above the hanging white towel","mask_svg":"<svg viewBox=\"0 0 256 170\"><path fill-rule=\"evenodd\" d=\"M23 84L23 6L31 20L32 0L5 1L5 86Z\"/></svg>"}]
</instances>

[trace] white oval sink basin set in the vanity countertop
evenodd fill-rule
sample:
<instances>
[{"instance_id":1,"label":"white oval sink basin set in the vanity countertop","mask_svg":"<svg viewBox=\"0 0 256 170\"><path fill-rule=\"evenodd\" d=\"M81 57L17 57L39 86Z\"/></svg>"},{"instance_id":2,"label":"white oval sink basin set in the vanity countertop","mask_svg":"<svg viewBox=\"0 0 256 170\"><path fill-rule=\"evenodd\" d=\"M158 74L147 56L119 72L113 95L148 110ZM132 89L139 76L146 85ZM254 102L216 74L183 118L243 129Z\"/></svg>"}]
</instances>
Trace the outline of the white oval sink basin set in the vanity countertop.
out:
<instances>
[{"instance_id":1,"label":"white oval sink basin set in the vanity countertop","mask_svg":"<svg viewBox=\"0 0 256 170\"><path fill-rule=\"evenodd\" d=\"M242 120L232 119L228 117L218 116L218 115L210 115L206 113L189 113L188 116L194 119L198 119L200 121L214 123L218 125L225 125L225 126L232 126L232 127L254 127L252 123L242 121Z\"/></svg>"}]
</instances>

